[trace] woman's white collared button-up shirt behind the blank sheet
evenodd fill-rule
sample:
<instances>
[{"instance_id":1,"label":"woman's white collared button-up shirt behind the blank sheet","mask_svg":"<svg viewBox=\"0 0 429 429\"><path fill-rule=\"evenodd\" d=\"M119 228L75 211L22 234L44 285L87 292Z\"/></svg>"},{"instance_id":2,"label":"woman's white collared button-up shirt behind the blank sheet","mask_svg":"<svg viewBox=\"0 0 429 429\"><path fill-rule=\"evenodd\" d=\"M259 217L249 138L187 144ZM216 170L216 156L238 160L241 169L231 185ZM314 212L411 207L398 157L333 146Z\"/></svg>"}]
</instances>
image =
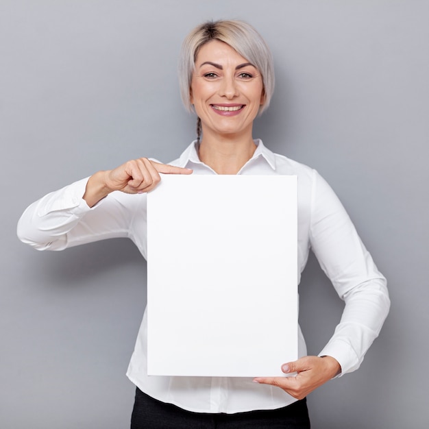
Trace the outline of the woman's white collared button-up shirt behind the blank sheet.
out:
<instances>
[{"instance_id":1,"label":"woman's white collared button-up shirt behind the blank sheet","mask_svg":"<svg viewBox=\"0 0 429 429\"><path fill-rule=\"evenodd\" d=\"M311 248L339 297L345 301L343 317L319 356L336 358L342 374L354 371L389 312L386 280L360 241L339 199L317 171L273 154L261 140L255 143L254 155L238 174L297 175L298 276L300 278L304 270ZM199 160L195 142L171 164L193 169L193 174L216 174ZM146 195L118 191L89 208L82 199L87 181L75 182L29 206L19 221L19 238L36 249L62 250L105 238L129 237L146 258ZM299 356L305 355L306 345L299 330ZM279 366L281 364L279 362ZM252 378L147 376L146 311L127 376L151 397L200 413L280 408L295 401L282 389L256 384Z\"/></svg>"}]
</instances>

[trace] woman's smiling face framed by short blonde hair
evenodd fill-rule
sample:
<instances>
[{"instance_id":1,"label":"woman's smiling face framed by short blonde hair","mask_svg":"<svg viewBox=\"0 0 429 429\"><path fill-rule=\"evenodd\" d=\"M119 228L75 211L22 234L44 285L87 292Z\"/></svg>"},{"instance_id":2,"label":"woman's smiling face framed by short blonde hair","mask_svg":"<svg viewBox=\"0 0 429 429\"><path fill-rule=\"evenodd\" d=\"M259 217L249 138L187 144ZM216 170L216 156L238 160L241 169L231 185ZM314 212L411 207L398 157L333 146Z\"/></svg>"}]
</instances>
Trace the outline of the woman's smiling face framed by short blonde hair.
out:
<instances>
[{"instance_id":1,"label":"woman's smiling face framed by short blonde hair","mask_svg":"<svg viewBox=\"0 0 429 429\"><path fill-rule=\"evenodd\" d=\"M252 123L264 98L259 71L230 45L212 40L199 49L191 103L203 133L252 137Z\"/></svg>"}]
</instances>

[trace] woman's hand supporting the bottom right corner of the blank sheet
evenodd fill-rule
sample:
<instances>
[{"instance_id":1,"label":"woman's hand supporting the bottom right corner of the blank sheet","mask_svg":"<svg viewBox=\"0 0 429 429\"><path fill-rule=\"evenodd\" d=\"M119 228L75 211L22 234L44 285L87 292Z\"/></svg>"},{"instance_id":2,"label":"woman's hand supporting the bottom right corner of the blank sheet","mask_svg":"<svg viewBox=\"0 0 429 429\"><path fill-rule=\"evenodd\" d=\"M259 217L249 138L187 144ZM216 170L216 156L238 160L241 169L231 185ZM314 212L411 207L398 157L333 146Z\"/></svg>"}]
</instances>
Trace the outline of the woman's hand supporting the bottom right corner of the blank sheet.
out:
<instances>
[{"instance_id":1,"label":"woman's hand supporting the bottom right corner of the blank sheet","mask_svg":"<svg viewBox=\"0 0 429 429\"><path fill-rule=\"evenodd\" d=\"M297 400L329 381L341 372L338 361L331 356L304 356L282 365L284 373L296 372L295 377L256 377L254 382L280 387Z\"/></svg>"}]
</instances>

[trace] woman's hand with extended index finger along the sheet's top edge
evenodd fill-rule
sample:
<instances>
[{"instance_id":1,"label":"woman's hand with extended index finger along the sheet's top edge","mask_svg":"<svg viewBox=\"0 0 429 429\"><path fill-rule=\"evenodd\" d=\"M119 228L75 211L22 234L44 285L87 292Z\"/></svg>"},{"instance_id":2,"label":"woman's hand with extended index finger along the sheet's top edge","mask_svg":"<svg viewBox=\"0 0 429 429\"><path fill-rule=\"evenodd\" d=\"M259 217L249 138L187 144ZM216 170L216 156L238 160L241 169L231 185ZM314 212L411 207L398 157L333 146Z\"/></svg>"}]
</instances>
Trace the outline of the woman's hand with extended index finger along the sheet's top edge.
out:
<instances>
[{"instance_id":1,"label":"woman's hand with extended index finger along the sheet's top edge","mask_svg":"<svg viewBox=\"0 0 429 429\"><path fill-rule=\"evenodd\" d=\"M84 200L92 207L113 191L128 194L149 192L160 182L160 173L191 174L191 169L183 169L169 164L160 164L147 158L130 160L116 169L98 171L86 184Z\"/></svg>"}]
</instances>

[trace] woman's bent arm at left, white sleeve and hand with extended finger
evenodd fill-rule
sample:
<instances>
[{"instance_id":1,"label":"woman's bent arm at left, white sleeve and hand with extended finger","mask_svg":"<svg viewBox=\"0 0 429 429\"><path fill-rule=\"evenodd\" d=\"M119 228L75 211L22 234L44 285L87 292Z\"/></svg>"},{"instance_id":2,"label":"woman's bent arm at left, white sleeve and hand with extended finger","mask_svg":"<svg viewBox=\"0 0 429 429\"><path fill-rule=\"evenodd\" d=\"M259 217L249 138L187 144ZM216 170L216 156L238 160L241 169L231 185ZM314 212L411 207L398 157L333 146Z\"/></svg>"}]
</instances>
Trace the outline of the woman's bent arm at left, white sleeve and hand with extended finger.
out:
<instances>
[{"instance_id":1,"label":"woman's bent arm at left, white sleeve and hand with extended finger","mask_svg":"<svg viewBox=\"0 0 429 429\"><path fill-rule=\"evenodd\" d=\"M127 207L136 204L132 194L151 191L160 181L159 173L191 172L147 158L99 171L30 205L19 220L18 236L38 250L62 250L103 238L127 236L133 215Z\"/></svg>"}]
</instances>

